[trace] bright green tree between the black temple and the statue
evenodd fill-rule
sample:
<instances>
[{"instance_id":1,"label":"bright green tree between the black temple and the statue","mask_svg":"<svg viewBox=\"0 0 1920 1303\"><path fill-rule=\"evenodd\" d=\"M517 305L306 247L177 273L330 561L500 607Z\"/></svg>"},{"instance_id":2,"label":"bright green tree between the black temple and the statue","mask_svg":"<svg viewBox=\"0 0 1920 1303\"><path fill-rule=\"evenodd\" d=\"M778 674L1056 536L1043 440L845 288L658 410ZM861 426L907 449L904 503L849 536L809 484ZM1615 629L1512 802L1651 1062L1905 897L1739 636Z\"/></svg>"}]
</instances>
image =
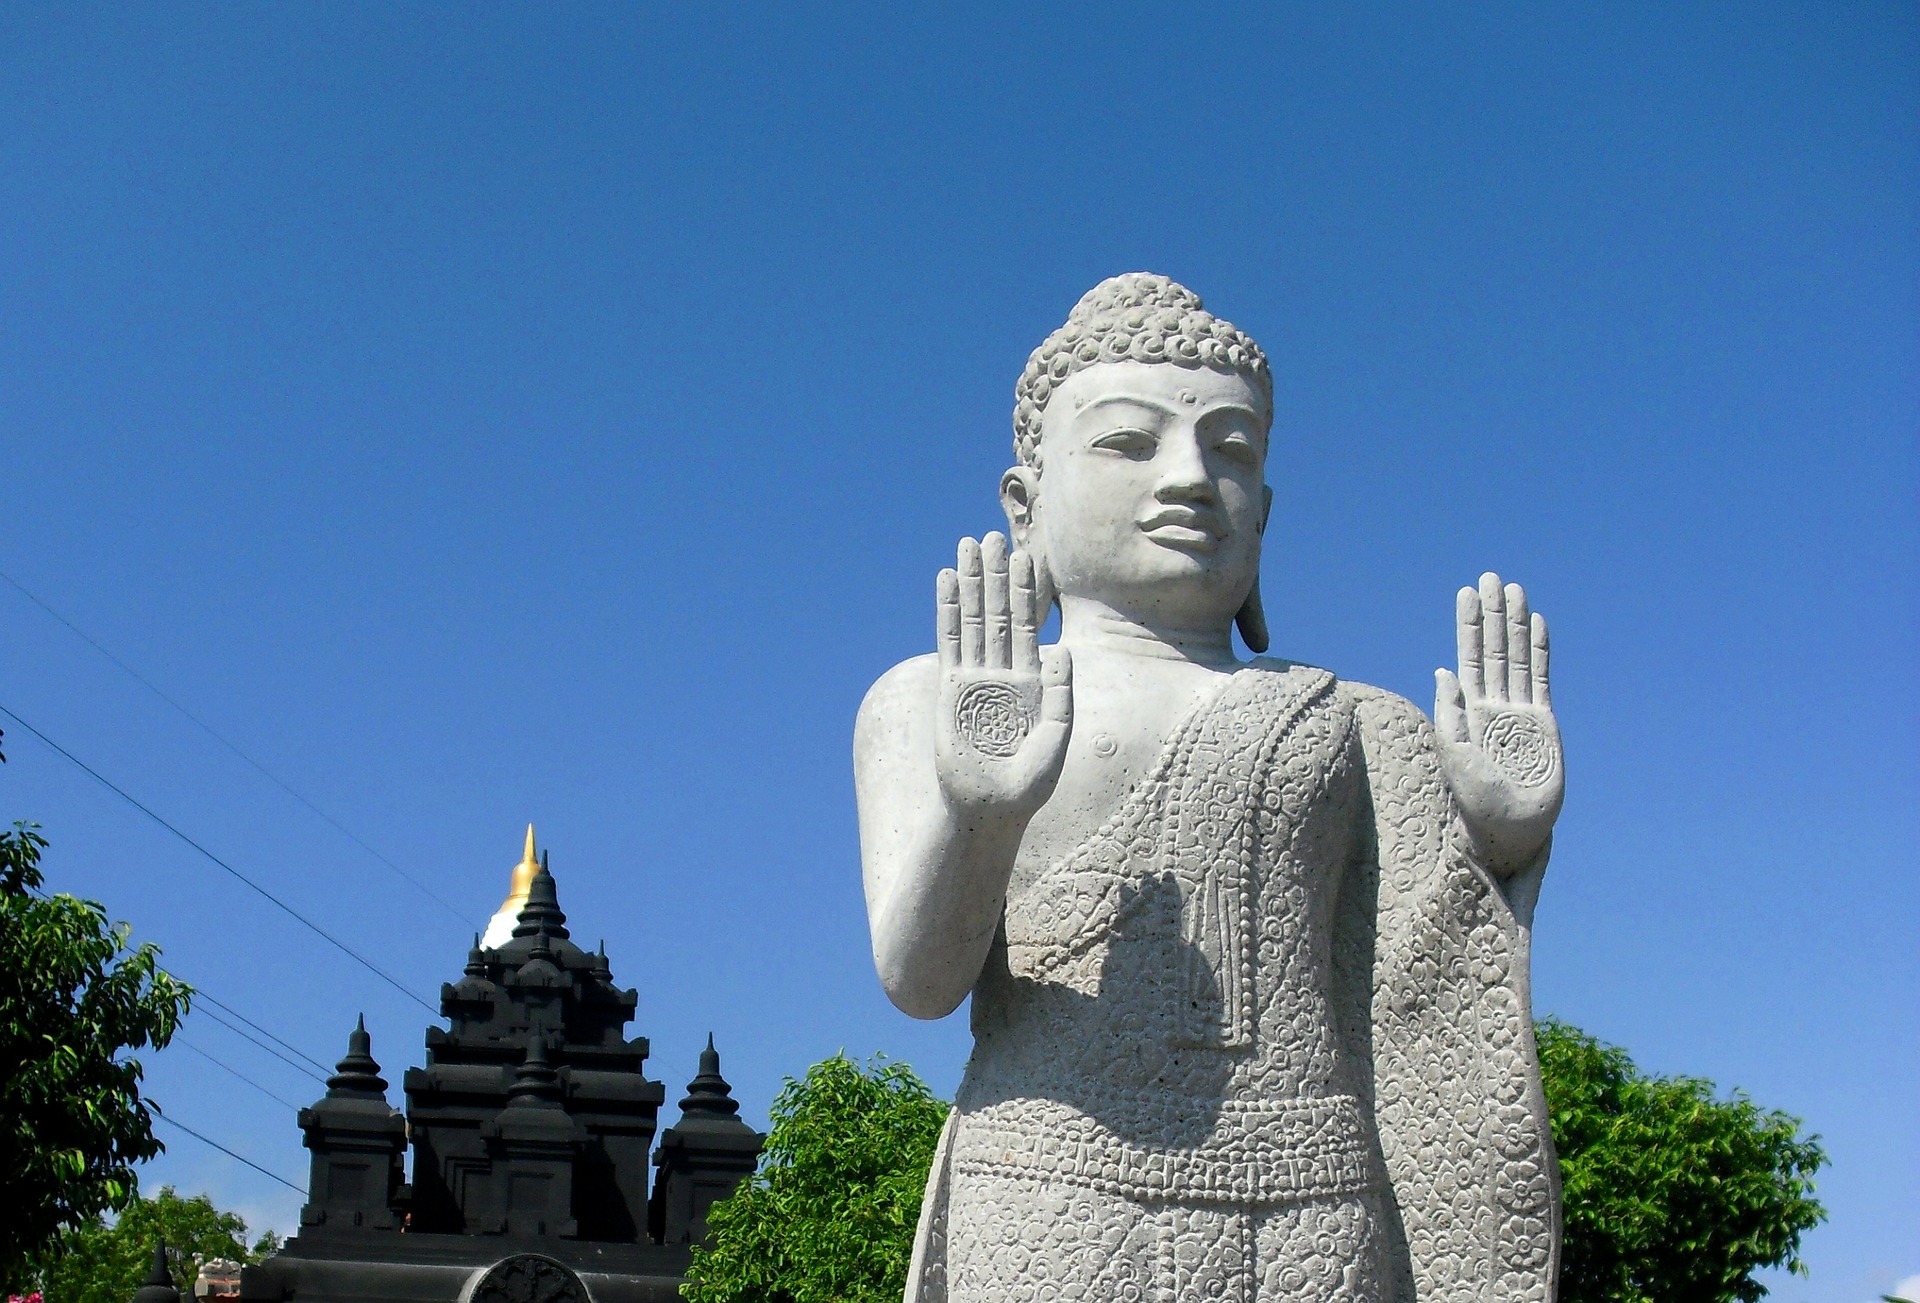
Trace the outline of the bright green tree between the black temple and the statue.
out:
<instances>
[{"instance_id":1,"label":"bright green tree between the black temple and the statue","mask_svg":"<svg viewBox=\"0 0 1920 1303\"><path fill-rule=\"evenodd\" d=\"M787 1078L760 1173L714 1205L691 1303L899 1303L947 1105L904 1063ZM58 1301L54 1301L58 1303Z\"/></svg>"}]
</instances>

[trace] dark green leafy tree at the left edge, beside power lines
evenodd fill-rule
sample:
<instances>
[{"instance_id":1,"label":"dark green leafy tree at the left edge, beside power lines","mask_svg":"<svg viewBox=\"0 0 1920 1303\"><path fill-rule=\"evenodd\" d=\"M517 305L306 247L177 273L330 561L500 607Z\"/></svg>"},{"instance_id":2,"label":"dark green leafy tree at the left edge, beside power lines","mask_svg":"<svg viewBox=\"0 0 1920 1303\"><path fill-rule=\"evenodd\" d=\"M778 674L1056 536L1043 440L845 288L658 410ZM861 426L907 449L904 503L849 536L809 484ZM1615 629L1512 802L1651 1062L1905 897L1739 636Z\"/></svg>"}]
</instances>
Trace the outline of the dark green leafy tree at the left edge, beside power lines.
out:
<instances>
[{"instance_id":1,"label":"dark green leafy tree at the left edge, beside power lines","mask_svg":"<svg viewBox=\"0 0 1920 1303\"><path fill-rule=\"evenodd\" d=\"M134 1197L161 1151L131 1050L165 1046L192 994L129 950L129 929L73 896L40 896L33 823L0 831L0 1278L65 1226Z\"/></svg>"}]
</instances>

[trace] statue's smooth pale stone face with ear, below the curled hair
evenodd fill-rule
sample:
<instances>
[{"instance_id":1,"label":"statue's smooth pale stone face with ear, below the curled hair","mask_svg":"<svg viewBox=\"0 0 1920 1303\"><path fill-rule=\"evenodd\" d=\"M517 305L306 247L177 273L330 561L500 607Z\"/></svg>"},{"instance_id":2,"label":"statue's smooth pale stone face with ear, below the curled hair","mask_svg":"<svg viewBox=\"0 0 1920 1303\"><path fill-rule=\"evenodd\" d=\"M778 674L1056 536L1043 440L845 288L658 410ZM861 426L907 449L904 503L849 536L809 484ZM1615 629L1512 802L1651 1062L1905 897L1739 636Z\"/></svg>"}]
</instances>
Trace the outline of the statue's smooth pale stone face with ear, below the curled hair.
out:
<instances>
[{"instance_id":1,"label":"statue's smooth pale stone face with ear, below the curled hair","mask_svg":"<svg viewBox=\"0 0 1920 1303\"><path fill-rule=\"evenodd\" d=\"M1148 624L1225 626L1260 568L1267 401L1244 376L1171 363L1075 372L1041 416L1041 470L1000 486L1014 539L1062 597Z\"/></svg>"}]
</instances>

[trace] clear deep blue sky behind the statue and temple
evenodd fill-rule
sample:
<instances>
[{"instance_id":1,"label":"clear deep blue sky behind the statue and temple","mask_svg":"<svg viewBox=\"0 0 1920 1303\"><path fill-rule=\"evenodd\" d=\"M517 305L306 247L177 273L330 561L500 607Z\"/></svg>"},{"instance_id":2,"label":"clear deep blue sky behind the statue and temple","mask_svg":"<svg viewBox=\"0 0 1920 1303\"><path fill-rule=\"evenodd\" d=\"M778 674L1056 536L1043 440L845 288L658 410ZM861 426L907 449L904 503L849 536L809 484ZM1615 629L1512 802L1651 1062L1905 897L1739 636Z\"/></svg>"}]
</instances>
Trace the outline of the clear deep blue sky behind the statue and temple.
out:
<instances>
[{"instance_id":1,"label":"clear deep blue sky behind the statue and temple","mask_svg":"<svg viewBox=\"0 0 1920 1303\"><path fill-rule=\"evenodd\" d=\"M839 1048L950 1090L964 1019L870 969L852 712L1027 349L1169 272L1275 361L1277 651L1430 702L1459 583L1551 618L1540 1009L1826 1138L1776 1297L1920 1274L1920 10L922 8L10 6L0 570L474 923L536 819L670 1100L708 1029L751 1115ZM0 704L459 975L6 585ZM0 723L54 888L315 1057L365 1011L397 1100L422 1009ZM148 1078L303 1184L282 1105ZM150 1186L290 1226L167 1138Z\"/></svg>"}]
</instances>

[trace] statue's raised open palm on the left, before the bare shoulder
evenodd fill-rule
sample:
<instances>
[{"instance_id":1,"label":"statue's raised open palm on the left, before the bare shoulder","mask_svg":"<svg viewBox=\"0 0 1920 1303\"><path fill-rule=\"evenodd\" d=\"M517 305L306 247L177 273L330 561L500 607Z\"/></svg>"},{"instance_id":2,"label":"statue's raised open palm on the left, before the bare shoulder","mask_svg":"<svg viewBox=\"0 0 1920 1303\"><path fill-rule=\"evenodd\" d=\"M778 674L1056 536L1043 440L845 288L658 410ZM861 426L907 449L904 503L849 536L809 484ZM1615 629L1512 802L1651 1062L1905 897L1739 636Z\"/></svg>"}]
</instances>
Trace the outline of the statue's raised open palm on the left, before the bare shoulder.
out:
<instances>
[{"instance_id":1,"label":"statue's raised open palm on the left, before the bare shoulder","mask_svg":"<svg viewBox=\"0 0 1920 1303\"><path fill-rule=\"evenodd\" d=\"M941 691L933 766L956 808L1031 817L1073 733L1073 656L1041 649L1033 558L1006 537L960 539L937 583Z\"/></svg>"}]
</instances>

